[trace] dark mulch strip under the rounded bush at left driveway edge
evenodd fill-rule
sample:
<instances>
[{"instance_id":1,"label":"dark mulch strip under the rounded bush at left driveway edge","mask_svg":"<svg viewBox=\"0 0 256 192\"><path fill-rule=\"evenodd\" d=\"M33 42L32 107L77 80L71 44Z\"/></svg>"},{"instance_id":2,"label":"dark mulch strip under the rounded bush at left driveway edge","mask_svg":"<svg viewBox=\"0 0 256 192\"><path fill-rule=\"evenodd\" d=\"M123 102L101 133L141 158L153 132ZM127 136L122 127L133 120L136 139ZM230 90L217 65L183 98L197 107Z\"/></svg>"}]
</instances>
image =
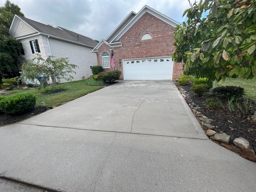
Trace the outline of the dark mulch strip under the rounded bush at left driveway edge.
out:
<instances>
[{"instance_id":1,"label":"dark mulch strip under the rounded bush at left driveway edge","mask_svg":"<svg viewBox=\"0 0 256 192\"><path fill-rule=\"evenodd\" d=\"M40 113L48 111L49 109L50 108L48 107L34 107L31 111L23 114L18 114L18 115L0 114L0 127L8 124L20 122L32 116L36 116Z\"/></svg>"}]
</instances>

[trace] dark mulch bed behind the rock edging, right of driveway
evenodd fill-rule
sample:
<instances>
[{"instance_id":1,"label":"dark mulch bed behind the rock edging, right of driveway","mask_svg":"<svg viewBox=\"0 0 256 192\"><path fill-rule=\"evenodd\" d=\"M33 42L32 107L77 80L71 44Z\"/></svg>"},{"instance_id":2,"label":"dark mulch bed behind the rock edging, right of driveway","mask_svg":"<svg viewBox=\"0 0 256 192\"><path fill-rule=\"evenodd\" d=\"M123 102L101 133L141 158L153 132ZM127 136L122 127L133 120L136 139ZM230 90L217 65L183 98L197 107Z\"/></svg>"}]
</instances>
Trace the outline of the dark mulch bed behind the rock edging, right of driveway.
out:
<instances>
[{"instance_id":1,"label":"dark mulch bed behind the rock edging, right of driveway","mask_svg":"<svg viewBox=\"0 0 256 192\"><path fill-rule=\"evenodd\" d=\"M252 113L247 116L239 116L239 114L231 113L228 109L223 110L221 107L216 110L209 110L203 103L206 98L194 94L188 85L179 87L183 88L193 102L201 107L204 116L214 120L211 124L216 126L216 132L222 131L230 136L230 144L233 143L235 138L243 137L250 142L252 148L256 151L256 122L250 119ZM249 102L252 106L256 106L254 100L249 100Z\"/></svg>"}]
</instances>

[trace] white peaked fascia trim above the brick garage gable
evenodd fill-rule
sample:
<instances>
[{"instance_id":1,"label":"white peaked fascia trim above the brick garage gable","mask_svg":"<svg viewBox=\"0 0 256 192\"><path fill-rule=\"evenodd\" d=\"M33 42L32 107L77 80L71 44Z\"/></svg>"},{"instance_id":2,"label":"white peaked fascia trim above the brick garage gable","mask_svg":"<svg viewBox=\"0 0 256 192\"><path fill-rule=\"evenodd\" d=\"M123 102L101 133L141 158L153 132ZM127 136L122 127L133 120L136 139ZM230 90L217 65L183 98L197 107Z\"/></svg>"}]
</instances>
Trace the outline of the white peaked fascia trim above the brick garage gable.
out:
<instances>
[{"instance_id":1,"label":"white peaked fascia trim above the brick garage gable","mask_svg":"<svg viewBox=\"0 0 256 192\"><path fill-rule=\"evenodd\" d=\"M146 12L148 12L149 14L152 14L153 16L155 16L156 18L168 23L169 25L176 27L177 25L180 25L180 23L176 22L175 20L165 16L164 14L152 9L151 7L145 5L135 16L134 18L132 18L132 20L130 20L130 22L112 39L112 41L110 42L110 44L114 41L117 41L120 37L122 37L124 35L124 33L126 31L128 31L136 21L138 21L142 15L144 15Z\"/></svg>"}]
</instances>

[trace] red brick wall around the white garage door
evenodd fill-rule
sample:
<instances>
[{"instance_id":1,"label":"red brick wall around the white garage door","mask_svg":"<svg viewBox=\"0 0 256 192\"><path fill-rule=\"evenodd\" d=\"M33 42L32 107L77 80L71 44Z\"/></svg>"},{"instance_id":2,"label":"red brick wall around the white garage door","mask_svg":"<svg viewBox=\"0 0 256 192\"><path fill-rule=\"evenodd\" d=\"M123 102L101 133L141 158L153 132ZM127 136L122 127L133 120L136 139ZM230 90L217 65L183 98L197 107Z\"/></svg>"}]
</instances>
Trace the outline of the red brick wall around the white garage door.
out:
<instances>
[{"instance_id":1,"label":"red brick wall around the white garage door","mask_svg":"<svg viewBox=\"0 0 256 192\"><path fill-rule=\"evenodd\" d=\"M152 39L141 40L144 34L150 34ZM119 41L122 46L114 47L115 69L123 71L123 66L118 65L123 59L171 56L175 50L174 27L146 12ZM102 66L102 52L107 51L110 54L109 49L110 46L105 43L100 46L97 54L98 65ZM182 64L174 63L172 79L180 75Z\"/></svg>"}]
</instances>

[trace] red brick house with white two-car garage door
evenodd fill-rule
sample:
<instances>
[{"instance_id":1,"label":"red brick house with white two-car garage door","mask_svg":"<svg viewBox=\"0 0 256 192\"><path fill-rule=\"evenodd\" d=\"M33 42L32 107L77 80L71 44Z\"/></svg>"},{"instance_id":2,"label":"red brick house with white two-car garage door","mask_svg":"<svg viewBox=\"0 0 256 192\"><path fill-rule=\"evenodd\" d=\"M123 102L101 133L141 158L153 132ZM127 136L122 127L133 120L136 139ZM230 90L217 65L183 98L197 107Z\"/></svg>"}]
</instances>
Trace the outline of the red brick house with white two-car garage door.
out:
<instances>
[{"instance_id":1,"label":"red brick house with white two-car garage door","mask_svg":"<svg viewBox=\"0 0 256 192\"><path fill-rule=\"evenodd\" d=\"M130 12L118 27L101 40L92 52L104 71L114 54L115 70L122 80L172 80L182 75L182 63L172 61L175 50L174 28L178 22L144 6L137 14Z\"/></svg>"}]
</instances>

